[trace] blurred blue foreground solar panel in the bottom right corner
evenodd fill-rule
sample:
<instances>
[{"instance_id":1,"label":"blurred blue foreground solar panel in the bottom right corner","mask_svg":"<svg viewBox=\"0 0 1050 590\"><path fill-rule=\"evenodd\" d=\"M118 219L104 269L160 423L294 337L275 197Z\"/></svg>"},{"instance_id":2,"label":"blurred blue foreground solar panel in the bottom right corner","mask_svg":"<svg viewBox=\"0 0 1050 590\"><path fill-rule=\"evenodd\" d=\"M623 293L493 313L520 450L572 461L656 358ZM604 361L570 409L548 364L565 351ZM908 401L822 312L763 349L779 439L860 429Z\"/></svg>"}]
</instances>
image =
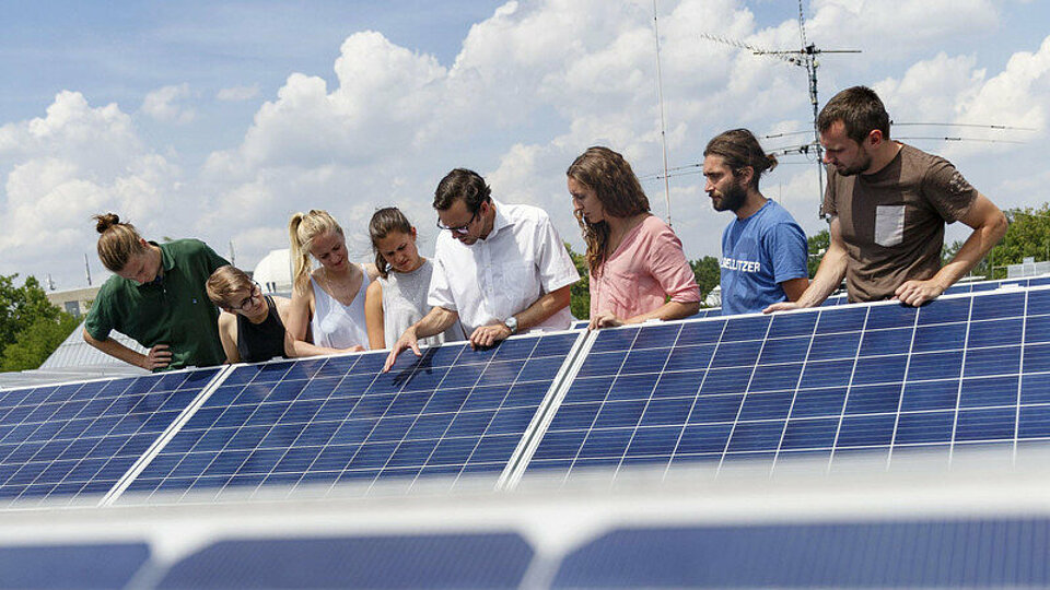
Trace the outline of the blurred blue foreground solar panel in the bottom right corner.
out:
<instances>
[{"instance_id":1,"label":"blurred blue foreground solar panel in the bottom right corner","mask_svg":"<svg viewBox=\"0 0 1050 590\"><path fill-rule=\"evenodd\" d=\"M552 588L1046 588L1050 521L619 529L575 550Z\"/></svg>"}]
</instances>

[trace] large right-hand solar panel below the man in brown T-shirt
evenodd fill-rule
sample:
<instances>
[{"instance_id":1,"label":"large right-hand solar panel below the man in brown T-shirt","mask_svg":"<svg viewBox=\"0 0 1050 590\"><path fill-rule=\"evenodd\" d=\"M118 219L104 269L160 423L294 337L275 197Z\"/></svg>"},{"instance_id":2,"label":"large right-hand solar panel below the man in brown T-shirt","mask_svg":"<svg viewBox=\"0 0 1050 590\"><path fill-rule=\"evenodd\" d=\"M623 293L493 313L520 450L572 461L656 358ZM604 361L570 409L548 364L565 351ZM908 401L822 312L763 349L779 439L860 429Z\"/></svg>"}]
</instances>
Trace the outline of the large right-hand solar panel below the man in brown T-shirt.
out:
<instances>
[{"instance_id":1,"label":"large right-hand solar panel below the man in brown T-shirt","mask_svg":"<svg viewBox=\"0 0 1050 590\"><path fill-rule=\"evenodd\" d=\"M528 471L1050 438L1050 290L602 330Z\"/></svg>"}]
</instances>

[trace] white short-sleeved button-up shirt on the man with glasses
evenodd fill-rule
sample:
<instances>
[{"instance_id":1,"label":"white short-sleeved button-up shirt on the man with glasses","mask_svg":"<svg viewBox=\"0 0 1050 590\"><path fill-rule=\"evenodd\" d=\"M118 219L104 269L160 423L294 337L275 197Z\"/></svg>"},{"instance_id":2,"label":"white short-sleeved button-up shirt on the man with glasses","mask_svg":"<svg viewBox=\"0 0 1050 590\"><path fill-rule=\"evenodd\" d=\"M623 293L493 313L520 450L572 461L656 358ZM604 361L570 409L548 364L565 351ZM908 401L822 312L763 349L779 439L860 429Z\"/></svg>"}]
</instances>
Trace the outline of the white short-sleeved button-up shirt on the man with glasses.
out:
<instances>
[{"instance_id":1,"label":"white short-sleeved button-up shirt on the man with glasses","mask_svg":"<svg viewBox=\"0 0 1050 590\"><path fill-rule=\"evenodd\" d=\"M546 293L580 280L565 244L547 212L532 205L495 205L492 232L467 246L450 232L438 235L428 303L459 314L469 335L479 326L503 323ZM569 308L533 329L565 330Z\"/></svg>"}]
</instances>

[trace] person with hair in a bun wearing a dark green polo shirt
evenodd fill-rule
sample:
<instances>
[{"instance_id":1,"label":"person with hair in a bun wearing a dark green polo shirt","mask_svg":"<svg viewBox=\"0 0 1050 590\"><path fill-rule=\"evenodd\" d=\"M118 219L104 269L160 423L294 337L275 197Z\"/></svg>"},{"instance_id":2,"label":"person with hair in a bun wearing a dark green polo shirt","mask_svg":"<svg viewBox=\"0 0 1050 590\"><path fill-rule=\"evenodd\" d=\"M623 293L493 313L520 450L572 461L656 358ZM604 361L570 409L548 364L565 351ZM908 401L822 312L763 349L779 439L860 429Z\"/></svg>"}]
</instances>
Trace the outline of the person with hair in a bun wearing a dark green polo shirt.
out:
<instances>
[{"instance_id":1,"label":"person with hair in a bun wearing a dark green polo shirt","mask_svg":"<svg viewBox=\"0 0 1050 590\"><path fill-rule=\"evenodd\" d=\"M95 215L98 258L116 273L98 291L84 321L84 340L100 351L149 370L208 367L225 361L219 309L205 283L229 264L197 239L156 244L114 213ZM140 354L109 338L117 330L142 346Z\"/></svg>"}]
</instances>

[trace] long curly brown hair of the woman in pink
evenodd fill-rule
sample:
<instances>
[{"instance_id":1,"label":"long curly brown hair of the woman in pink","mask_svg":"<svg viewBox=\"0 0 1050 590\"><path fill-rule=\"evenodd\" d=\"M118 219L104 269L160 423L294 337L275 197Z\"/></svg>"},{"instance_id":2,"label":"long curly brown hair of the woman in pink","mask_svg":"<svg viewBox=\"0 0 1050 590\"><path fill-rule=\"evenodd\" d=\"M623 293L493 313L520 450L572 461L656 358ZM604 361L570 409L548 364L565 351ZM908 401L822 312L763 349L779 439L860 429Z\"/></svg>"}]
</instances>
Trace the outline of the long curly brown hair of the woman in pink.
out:
<instances>
[{"instance_id":1,"label":"long curly brown hair of the woman in pink","mask_svg":"<svg viewBox=\"0 0 1050 590\"><path fill-rule=\"evenodd\" d=\"M630 217L649 212L649 197L645 197L631 165L608 148L588 148L572 161L565 175L594 190L606 215ZM588 223L579 212L575 216L587 245L587 268L596 276L612 253L609 251L609 224L605 221Z\"/></svg>"}]
</instances>

